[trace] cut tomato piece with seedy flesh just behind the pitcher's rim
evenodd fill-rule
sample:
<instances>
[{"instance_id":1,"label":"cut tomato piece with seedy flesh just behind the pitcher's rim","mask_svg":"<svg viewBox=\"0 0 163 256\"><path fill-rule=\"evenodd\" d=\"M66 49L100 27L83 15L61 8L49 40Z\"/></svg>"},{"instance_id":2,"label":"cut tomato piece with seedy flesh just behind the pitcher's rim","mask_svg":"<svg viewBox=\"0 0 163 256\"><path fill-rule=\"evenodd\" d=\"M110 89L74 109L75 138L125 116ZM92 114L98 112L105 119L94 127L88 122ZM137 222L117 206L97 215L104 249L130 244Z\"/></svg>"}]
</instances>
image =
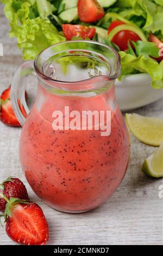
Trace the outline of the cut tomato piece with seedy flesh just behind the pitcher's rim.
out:
<instances>
[{"instance_id":1,"label":"cut tomato piece with seedy flesh just behind the pitcher's rim","mask_svg":"<svg viewBox=\"0 0 163 256\"><path fill-rule=\"evenodd\" d=\"M92 38L96 33L96 28L86 27L81 25L64 24L62 29L67 40L71 40L72 37Z\"/></svg>"}]
</instances>

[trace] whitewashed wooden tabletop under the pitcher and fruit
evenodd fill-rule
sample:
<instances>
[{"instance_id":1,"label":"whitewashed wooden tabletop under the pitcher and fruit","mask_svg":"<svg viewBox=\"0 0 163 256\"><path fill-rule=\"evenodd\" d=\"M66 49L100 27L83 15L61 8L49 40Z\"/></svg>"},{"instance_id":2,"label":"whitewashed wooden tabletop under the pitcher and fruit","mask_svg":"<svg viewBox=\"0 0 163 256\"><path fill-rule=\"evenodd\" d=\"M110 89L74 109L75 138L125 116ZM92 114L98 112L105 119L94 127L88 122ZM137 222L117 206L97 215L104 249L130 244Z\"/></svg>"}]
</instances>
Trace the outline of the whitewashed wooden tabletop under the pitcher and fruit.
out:
<instances>
[{"instance_id":1,"label":"whitewashed wooden tabletop under the pitcher and fruit","mask_svg":"<svg viewBox=\"0 0 163 256\"><path fill-rule=\"evenodd\" d=\"M0 94L9 86L12 74L22 62L16 40L9 38L8 21L0 6L0 43L4 56L0 57ZM136 109L146 116L162 116L162 100ZM155 148L139 142L131 135L129 168L116 193L97 210L70 215L55 211L36 197L20 168L18 140L21 128L0 123L0 181L8 176L19 177L29 197L39 204L49 224L49 245L160 245L162 244L162 199L158 197L161 179L147 177L141 172L143 160ZM0 228L0 245L15 245L5 228Z\"/></svg>"}]
</instances>

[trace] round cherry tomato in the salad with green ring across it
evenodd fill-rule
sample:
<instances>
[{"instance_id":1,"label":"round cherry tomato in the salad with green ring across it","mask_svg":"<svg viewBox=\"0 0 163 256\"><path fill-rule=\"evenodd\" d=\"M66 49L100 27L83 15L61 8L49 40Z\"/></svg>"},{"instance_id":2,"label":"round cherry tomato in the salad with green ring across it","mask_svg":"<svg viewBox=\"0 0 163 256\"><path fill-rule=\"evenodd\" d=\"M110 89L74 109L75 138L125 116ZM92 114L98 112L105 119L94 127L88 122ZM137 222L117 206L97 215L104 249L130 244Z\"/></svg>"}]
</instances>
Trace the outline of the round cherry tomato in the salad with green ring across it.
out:
<instances>
[{"instance_id":1,"label":"round cherry tomato in the salad with green ring across it","mask_svg":"<svg viewBox=\"0 0 163 256\"><path fill-rule=\"evenodd\" d=\"M114 29L117 26L120 26L122 24L125 24L125 22L123 21L112 21L112 23L110 24L109 28L108 28L108 34L110 33L110 31L112 31L112 29ZM120 49L122 51L126 51L128 49L128 41L134 41L136 42L137 40L141 40L141 38L139 37L139 35L137 35L136 33L134 33L133 31L130 30L122 30L120 32L118 32L113 38L112 38L112 43L115 43L116 45L118 45L120 47ZM134 49L134 46L132 43L130 43L131 47Z\"/></svg>"}]
</instances>

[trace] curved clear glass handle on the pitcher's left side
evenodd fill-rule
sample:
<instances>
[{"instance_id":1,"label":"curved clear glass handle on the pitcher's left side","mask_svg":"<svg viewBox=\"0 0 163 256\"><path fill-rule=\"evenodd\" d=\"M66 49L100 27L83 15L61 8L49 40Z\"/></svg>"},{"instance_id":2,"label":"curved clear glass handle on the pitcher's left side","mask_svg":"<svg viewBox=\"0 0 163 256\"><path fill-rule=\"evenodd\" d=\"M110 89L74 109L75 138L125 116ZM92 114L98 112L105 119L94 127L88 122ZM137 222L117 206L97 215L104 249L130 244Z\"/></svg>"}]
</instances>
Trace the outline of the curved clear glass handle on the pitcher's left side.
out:
<instances>
[{"instance_id":1,"label":"curved clear glass handle on the pitcher's left side","mask_svg":"<svg viewBox=\"0 0 163 256\"><path fill-rule=\"evenodd\" d=\"M34 61L25 61L18 66L11 84L11 103L17 120L23 126L29 109L26 103L26 83L28 75L36 75Z\"/></svg>"}]
</instances>

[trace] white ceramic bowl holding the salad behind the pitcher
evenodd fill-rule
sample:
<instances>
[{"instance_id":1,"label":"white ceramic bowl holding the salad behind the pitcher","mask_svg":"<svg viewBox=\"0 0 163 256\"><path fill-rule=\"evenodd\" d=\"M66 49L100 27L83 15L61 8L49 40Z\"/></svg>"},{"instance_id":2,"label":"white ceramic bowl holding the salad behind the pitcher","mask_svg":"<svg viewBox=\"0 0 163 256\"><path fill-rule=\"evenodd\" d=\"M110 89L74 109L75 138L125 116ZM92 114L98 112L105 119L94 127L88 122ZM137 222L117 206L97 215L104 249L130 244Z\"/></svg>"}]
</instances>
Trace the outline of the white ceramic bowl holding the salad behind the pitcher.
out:
<instances>
[{"instance_id":1,"label":"white ceramic bowl holding the salad behind the pitcher","mask_svg":"<svg viewBox=\"0 0 163 256\"><path fill-rule=\"evenodd\" d=\"M163 97L162 89L152 88L148 74L123 76L121 81L116 80L115 90L122 111L145 106Z\"/></svg>"}]
</instances>

